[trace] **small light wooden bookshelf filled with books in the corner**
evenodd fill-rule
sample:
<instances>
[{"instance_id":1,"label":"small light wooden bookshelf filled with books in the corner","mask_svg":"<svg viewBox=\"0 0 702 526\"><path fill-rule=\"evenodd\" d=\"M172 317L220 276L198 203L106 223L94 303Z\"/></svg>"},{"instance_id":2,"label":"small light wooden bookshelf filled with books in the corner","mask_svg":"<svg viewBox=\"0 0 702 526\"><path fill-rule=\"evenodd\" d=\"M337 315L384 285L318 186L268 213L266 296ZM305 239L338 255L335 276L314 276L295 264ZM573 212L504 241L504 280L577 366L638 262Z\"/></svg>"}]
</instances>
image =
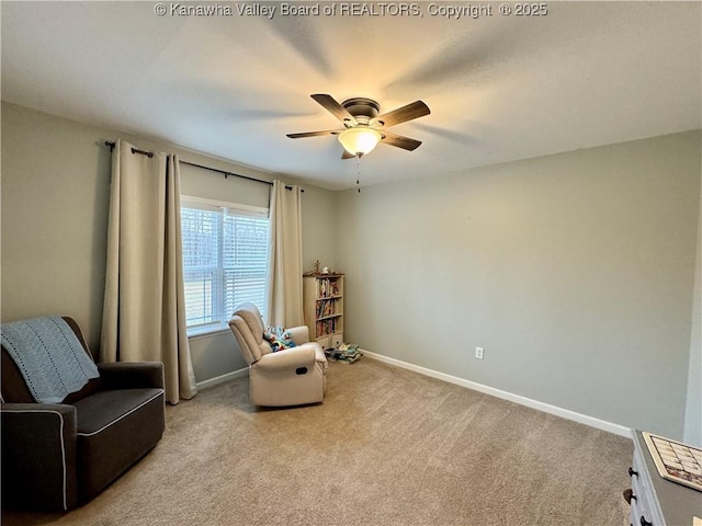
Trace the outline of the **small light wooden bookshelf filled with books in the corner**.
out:
<instances>
[{"instance_id":1,"label":"small light wooden bookshelf filled with books in the corner","mask_svg":"<svg viewBox=\"0 0 702 526\"><path fill-rule=\"evenodd\" d=\"M343 343L343 274L303 277L305 324L325 351Z\"/></svg>"}]
</instances>

